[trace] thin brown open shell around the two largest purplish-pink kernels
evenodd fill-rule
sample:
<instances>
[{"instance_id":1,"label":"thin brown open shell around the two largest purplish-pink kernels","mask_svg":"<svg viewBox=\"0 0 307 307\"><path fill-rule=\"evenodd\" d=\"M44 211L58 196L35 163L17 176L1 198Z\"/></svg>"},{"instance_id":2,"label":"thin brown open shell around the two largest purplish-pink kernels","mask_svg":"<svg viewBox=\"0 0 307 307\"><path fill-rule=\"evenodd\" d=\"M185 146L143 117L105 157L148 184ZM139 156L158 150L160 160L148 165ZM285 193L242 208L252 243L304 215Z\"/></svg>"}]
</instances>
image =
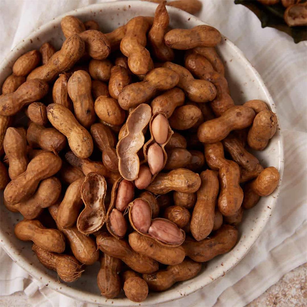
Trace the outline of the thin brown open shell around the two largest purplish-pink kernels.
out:
<instances>
[{"instance_id":1,"label":"thin brown open shell around the two largest purplish-pink kernels","mask_svg":"<svg viewBox=\"0 0 307 307\"><path fill-rule=\"evenodd\" d=\"M161 240L161 239L157 239L155 236L153 235L150 235L149 232L144 232L144 231L141 231L137 225L134 223L133 221L133 216L132 216L132 210L133 210L133 207L135 205L135 202L138 201L138 200L142 200L144 201L147 205L148 205L148 208L147 210L150 210L150 217L152 216L152 206L150 204L150 202L145 199L145 198L136 198L134 199L129 205L128 205L128 209L129 209L129 222L130 222L130 225L133 227L133 229L135 231L137 231L138 233L140 233L141 235L144 235L146 237L149 237L151 239L154 239L155 241L157 241L159 244L163 245L163 246L167 246L167 247L177 247L177 246L180 246L184 241L185 241L185 231L183 231L182 229L178 228L177 225L173 222L171 222L170 220L167 220L167 219L163 219L163 218L155 218L153 220L151 220L151 225L153 222L157 222L157 221L163 221L164 223L168 223L169 226L171 226L172 228L176 229L179 237L181 238L180 239L180 242L178 243L167 243L166 240ZM138 219L139 221L140 219ZM171 235L171 231L168 235Z\"/></svg>"}]
</instances>

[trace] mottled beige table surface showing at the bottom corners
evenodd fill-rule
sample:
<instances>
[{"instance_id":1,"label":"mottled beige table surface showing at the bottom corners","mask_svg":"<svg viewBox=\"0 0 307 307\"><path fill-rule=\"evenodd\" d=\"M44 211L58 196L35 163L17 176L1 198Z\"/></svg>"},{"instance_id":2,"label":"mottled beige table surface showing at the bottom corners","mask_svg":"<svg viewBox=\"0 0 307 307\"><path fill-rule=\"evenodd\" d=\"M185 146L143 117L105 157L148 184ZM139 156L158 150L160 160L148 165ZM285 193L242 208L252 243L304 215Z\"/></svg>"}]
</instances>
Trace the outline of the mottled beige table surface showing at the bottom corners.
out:
<instances>
[{"instance_id":1,"label":"mottled beige table surface showing at the bottom corners","mask_svg":"<svg viewBox=\"0 0 307 307\"><path fill-rule=\"evenodd\" d=\"M307 305L307 263L285 274L275 285L246 307L303 307ZM24 292L0 297L2 307L32 307Z\"/></svg>"}]
</instances>

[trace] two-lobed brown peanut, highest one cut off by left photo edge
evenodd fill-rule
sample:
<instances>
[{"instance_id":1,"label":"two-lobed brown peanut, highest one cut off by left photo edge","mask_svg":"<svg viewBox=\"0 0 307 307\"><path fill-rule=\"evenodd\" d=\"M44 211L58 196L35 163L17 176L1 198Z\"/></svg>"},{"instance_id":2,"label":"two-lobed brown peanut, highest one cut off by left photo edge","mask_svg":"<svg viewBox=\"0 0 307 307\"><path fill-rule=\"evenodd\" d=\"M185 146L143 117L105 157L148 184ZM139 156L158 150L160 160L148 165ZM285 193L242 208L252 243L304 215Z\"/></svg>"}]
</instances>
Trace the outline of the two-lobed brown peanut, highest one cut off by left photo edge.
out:
<instances>
[{"instance_id":1,"label":"two-lobed brown peanut, highest one cut off by left photo edge","mask_svg":"<svg viewBox=\"0 0 307 307\"><path fill-rule=\"evenodd\" d=\"M13 93L0 96L0 115L16 114L33 101L40 100L48 92L49 86L43 80L33 79L21 84Z\"/></svg>"}]
</instances>

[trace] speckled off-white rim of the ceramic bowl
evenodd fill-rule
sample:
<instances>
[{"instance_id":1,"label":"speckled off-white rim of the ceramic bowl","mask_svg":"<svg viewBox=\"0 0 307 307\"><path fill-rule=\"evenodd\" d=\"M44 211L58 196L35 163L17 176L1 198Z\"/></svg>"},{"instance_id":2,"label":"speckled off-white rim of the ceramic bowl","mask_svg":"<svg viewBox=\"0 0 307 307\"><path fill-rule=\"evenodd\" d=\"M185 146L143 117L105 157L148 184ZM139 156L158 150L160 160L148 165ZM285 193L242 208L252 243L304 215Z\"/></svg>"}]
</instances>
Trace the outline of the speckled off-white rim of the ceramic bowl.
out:
<instances>
[{"instance_id":1,"label":"speckled off-white rim of the ceramic bowl","mask_svg":"<svg viewBox=\"0 0 307 307\"><path fill-rule=\"evenodd\" d=\"M39 35L39 33L44 32L45 30L48 30L50 27L52 27L52 25L60 24L61 19L64 16L67 15L73 15L73 16L78 16L80 13L84 13L84 10L87 11L95 11L95 10L100 10L103 9L104 7L108 6L113 6L113 7L122 7L124 8L125 6L135 6L135 5L145 5L146 6L152 6L153 9L156 8L157 3L153 3L153 2L143 2L143 1L139 1L139 0L129 0L129 1L111 1L111 2L101 2L101 3L95 3L95 4L91 4L88 6L83 6L71 11L68 11L64 14L61 14L60 16L53 18L52 20L50 20L49 22L45 23L44 25L40 26L39 28L37 28L35 31L33 31L29 36L27 36L26 38L24 38L23 40L21 40L6 56L5 58L2 60L1 64L0 64L0 68L2 68L1 70L3 70L4 68L6 68L9 64L10 64L10 58L14 56L14 53L22 50L23 45L26 44L26 40L31 40L35 37L37 37L37 35ZM180 9L177 9L175 7L171 7L168 6L168 11L169 12L177 12L179 14L181 14L183 17L186 17L187 19L190 18L193 21L199 23L199 24L207 24L203 21L201 21L199 18L197 18L194 15L191 15L185 11L182 11ZM259 75L259 73L256 71L256 69L254 68L254 66L249 62L249 60L247 60L247 58L244 56L243 52L232 42L230 41L227 37L222 36L223 39L225 39L226 44L228 45L228 47L232 48L233 51L240 57L240 60L244 62L244 64L246 64L248 66L248 68L251 70L251 72L254 74L255 79L257 80L259 86L261 87L262 91L265 93L267 101L270 104L270 107L272 109L272 111L274 113L276 113L276 106L274 104L274 101L272 99L272 96L270 95L268 89L266 88L266 85L264 83L264 81L262 80L261 76ZM283 175L283 169L284 169L284 150L283 150L283 135L282 135L282 129L280 126L280 122L278 120L278 126L280 128L279 130L279 153L280 153L280 158L279 158L279 165L278 165L278 169L279 169L279 173L280 173L280 183L278 185L278 187L276 188L276 190L274 191L274 193L276 194L275 197L272 199L271 203L270 203L270 207L272 208L272 210L270 211L270 213L272 213L277 199L278 199L278 195L280 192L280 185L282 182L282 175ZM246 249L241 249L241 251L237 252L237 257L234 258L234 260L231 259L227 259L227 262L224 262L224 268L225 268L225 272L228 272L229 270L231 270L235 265L237 265L242 258L248 253L248 251L251 249L251 247L253 246L253 244L255 243L255 241L257 240L258 236L260 235L260 233L263 230L263 227L266 225L267 221L269 220L271 214L269 212L267 212L262 219L262 223L261 225L259 225L259 227L257 228L257 232L255 235L255 239L251 240L251 242L249 244L246 244L245 247ZM105 306L131 306L131 305L143 305L143 306L147 306L147 305L156 305L156 304L160 304L160 303L166 303L169 301L175 301L180 299L181 297L183 297L183 295L177 293L177 296L174 298L166 298L163 294L160 294L158 296L154 296L154 300L153 299L146 299L145 301L143 301L142 303L134 303L129 301L127 298L113 298L113 299L107 299L105 297L102 296L98 296L98 294L93 294L93 293L88 293L88 292L83 292L80 291L78 289L72 288L71 286L67 285L66 283L60 283L61 285L61 289L59 287L59 282L57 280L55 280L52 276L49 276L48 274L42 274L41 273L41 269L36 268L34 266L31 266L30 263L28 263L28 261L25 259L25 257L19 253L19 251L17 250L16 247L14 247L11 242L10 242L10 238L9 236L5 235L5 231L2 230L2 228L0 228L0 245L1 247L6 251L6 253L10 256L10 258L12 258L12 260L17 263L18 266L20 266L23 270L25 270L27 273L29 273L29 275L31 275L34 279L36 279L38 282L42 283L42 284L48 284L48 286L52 289L55 290L63 295L66 295L68 297L71 297L75 300L79 300L79 301L83 301L83 302L88 302L88 303L92 303L92 304L102 304ZM228 267L228 269L227 269ZM211 280L211 282L207 283L205 286L211 284L212 282L216 281L217 279L221 278L224 274L221 272L221 274L219 274L219 276L216 276L216 278L213 278ZM185 287L185 296L196 292L197 290L202 289L204 286L200 285L200 286L187 286ZM164 298L165 297L165 298ZM169 297L169 296L168 296Z\"/></svg>"}]
</instances>

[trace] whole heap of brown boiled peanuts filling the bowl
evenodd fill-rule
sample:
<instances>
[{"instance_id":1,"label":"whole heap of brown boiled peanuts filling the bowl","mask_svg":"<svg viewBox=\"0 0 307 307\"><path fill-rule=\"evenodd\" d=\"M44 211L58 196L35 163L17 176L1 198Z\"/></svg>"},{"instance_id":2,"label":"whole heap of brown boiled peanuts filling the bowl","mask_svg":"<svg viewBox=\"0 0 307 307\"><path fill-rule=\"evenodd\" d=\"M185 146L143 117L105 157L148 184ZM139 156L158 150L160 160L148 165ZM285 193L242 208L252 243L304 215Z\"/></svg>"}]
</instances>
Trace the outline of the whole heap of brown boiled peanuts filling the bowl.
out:
<instances>
[{"instance_id":1,"label":"whole heap of brown boiled peanuts filling the bowl","mask_svg":"<svg viewBox=\"0 0 307 307\"><path fill-rule=\"evenodd\" d=\"M19 57L0 96L1 189L24 216L15 235L64 282L99 260L107 298L140 302L195 277L279 183L247 151L266 148L276 115L260 100L235 106L219 31L169 30L165 5L106 34L64 17L62 48Z\"/></svg>"}]
</instances>

